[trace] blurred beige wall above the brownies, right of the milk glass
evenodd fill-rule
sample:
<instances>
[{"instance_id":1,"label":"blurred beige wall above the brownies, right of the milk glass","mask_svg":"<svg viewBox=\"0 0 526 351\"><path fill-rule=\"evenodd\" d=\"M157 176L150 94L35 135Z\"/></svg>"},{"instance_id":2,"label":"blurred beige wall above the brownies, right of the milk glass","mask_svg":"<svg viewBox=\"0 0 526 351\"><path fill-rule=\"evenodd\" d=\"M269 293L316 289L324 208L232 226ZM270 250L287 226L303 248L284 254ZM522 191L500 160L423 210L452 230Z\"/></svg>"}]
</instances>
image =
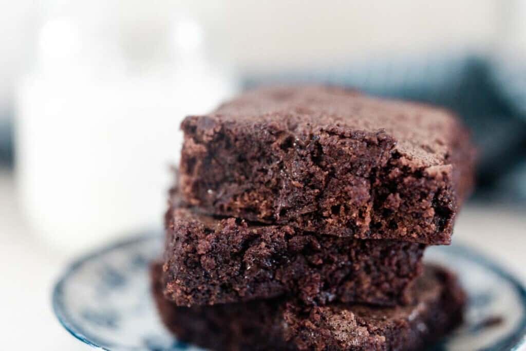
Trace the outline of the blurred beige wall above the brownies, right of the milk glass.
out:
<instances>
[{"instance_id":1,"label":"blurred beige wall above the brownies, right of the milk glass","mask_svg":"<svg viewBox=\"0 0 526 351\"><path fill-rule=\"evenodd\" d=\"M387 52L484 50L494 40L499 6L505 6L493 0L232 0L225 4L236 63L264 71Z\"/></svg>"}]
</instances>

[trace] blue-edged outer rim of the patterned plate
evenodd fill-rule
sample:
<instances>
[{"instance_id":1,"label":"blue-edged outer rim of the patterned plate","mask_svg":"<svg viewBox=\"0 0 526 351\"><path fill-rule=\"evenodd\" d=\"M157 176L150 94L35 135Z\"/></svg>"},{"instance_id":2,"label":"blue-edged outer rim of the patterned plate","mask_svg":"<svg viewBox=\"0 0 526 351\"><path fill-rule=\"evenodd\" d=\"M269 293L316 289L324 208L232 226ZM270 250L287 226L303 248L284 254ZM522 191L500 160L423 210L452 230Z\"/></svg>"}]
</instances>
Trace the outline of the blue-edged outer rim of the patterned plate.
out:
<instances>
[{"instance_id":1,"label":"blue-edged outer rim of the patterned plate","mask_svg":"<svg viewBox=\"0 0 526 351\"><path fill-rule=\"evenodd\" d=\"M77 270L89 260L95 259L115 249L119 249L119 248L122 248L128 245L133 245L136 243L143 242L145 240L151 240L155 238L162 239L163 232L159 232L159 230L146 230L144 232L140 232L139 234L135 234L127 238L122 238L120 240L116 240L113 243L109 243L105 246L90 250L90 252L88 252L87 254L80 255L78 258L70 261L70 263L62 271L59 277L55 280L55 284L54 284L53 291L52 291L53 312L55 316L57 317L58 322L67 330L69 334L73 335L75 338L77 338L78 340L80 340L81 342L89 346L99 348L105 351L112 351L112 349L108 347L112 347L114 345L103 343L97 337L83 332L82 328L73 322L73 318L69 316L67 312L67 308L64 305L64 300L61 298L63 296L64 284L67 282L69 277L75 274ZM525 313L520 319L519 325L515 328L513 333L510 336L504 338L503 340L498 340L497 343L491 345L490 347L484 348L482 350L518 351L519 349L522 349L523 347L525 347L526 346L526 286L524 286L521 280L517 278L513 273L509 272L507 269L501 266L497 262L497 260L494 260L488 255L481 253L479 249L472 248L462 242L454 243L452 245L446 245L446 246L448 247L448 250L454 251L456 255L463 255L464 257L467 257L468 259L472 260L478 265L492 270L495 274L507 280L512 285L515 292L517 292L522 302L522 306L524 308ZM439 247L439 246L434 246L434 247ZM103 344L106 344L108 346L102 346ZM118 347L121 347L121 346L118 346ZM129 350L140 349L135 346L127 346L127 348Z\"/></svg>"}]
</instances>

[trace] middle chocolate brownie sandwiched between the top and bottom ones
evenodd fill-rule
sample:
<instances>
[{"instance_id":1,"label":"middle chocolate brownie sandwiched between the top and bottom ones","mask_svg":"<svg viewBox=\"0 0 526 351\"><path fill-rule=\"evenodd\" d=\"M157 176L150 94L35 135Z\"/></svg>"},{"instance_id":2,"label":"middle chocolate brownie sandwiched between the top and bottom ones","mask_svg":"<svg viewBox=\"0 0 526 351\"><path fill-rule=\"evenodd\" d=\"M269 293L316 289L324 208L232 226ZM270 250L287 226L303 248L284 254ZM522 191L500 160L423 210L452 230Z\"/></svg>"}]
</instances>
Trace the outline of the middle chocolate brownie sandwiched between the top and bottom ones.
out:
<instances>
[{"instance_id":1,"label":"middle chocolate brownie sandwiched between the top and bottom ones","mask_svg":"<svg viewBox=\"0 0 526 351\"><path fill-rule=\"evenodd\" d=\"M425 245L315 235L288 225L166 215L165 294L180 306L294 295L305 304L409 303Z\"/></svg>"}]
</instances>

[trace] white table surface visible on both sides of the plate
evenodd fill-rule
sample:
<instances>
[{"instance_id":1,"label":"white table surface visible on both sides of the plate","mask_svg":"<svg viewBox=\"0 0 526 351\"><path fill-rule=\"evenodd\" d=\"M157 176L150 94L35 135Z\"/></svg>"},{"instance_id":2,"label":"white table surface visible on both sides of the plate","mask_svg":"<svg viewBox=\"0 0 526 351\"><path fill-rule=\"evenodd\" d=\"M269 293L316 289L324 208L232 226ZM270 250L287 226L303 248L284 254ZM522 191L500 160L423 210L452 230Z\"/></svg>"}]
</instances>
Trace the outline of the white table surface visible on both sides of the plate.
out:
<instances>
[{"instance_id":1,"label":"white table surface visible on both sides of the plate","mask_svg":"<svg viewBox=\"0 0 526 351\"><path fill-rule=\"evenodd\" d=\"M32 235L17 203L13 175L0 169L0 330L3 350L86 350L57 322L50 304L54 281L67 265ZM455 242L478 248L526 282L526 208L468 204Z\"/></svg>"}]
</instances>

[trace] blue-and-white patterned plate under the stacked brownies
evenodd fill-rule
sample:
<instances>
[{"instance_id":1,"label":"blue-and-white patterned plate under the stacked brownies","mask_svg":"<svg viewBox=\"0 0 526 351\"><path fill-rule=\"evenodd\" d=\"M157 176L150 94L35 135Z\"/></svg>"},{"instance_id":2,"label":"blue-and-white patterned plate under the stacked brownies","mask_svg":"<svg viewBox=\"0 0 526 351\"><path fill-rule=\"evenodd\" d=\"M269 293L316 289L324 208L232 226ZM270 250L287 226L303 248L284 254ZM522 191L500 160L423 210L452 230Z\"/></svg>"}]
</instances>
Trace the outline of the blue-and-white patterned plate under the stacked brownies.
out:
<instances>
[{"instance_id":1,"label":"blue-and-white patterned plate under the stacked brownies","mask_svg":"<svg viewBox=\"0 0 526 351\"><path fill-rule=\"evenodd\" d=\"M60 323L104 350L200 350L171 336L157 316L148 263L160 256L162 245L162 234L144 233L76 260L53 291ZM425 259L456 272L469 295L466 321L433 350L526 346L526 290L519 280L462 245L430 247Z\"/></svg>"}]
</instances>

